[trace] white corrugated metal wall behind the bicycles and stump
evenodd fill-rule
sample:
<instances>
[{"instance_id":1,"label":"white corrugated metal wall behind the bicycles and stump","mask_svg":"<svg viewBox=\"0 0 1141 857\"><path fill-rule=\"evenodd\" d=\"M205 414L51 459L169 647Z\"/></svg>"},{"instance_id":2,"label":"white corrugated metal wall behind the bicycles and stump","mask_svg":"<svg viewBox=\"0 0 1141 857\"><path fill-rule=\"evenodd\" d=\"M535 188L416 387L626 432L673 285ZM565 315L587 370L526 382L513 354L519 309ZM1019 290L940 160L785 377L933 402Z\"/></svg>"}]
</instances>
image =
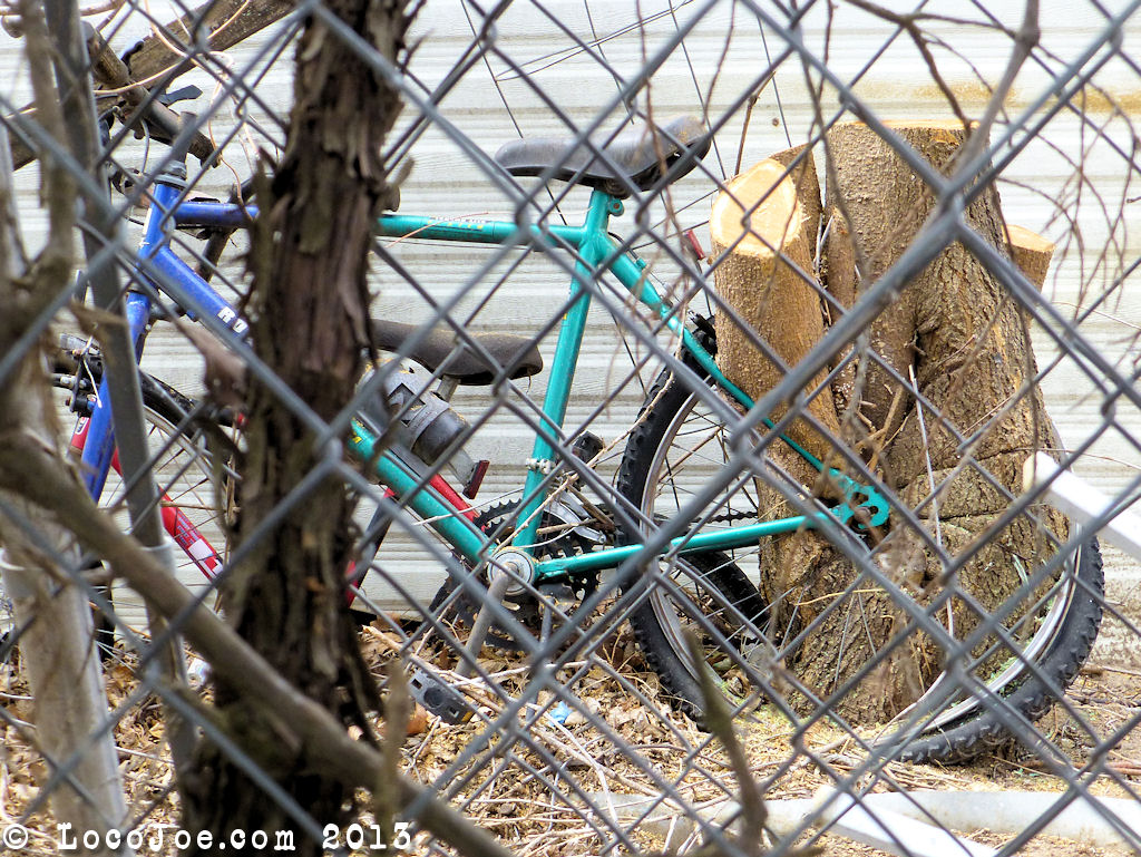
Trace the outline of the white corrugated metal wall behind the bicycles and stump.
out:
<instances>
[{"instance_id":1,"label":"white corrugated metal wall behind the bicycles and stump","mask_svg":"<svg viewBox=\"0 0 1141 857\"><path fill-rule=\"evenodd\" d=\"M1031 64L1020 74L1008 104L1011 115L1030 106L1045 91L1051 75L1077 57L1101 25L1100 17L1089 8L1075 10L1074 5L1065 0L1051 0L1042 7L1043 45L1054 59L1045 65ZM167 17L161 7L152 3L151 8L160 18ZM992 8L1008 26L1018 25L1021 3L993 3ZM826 43L825 11L824 5L814 7L802 22L799 35L818 56L827 51L828 68L842 80L859 78L856 92L866 104L881 115L896 119L948 115L942 96L905 37L884 48L885 25L844 7L836 11ZM958 0L940 3L938 11L949 18L977 16L973 5ZM699 19L683 41L685 49L670 52L638 94L638 99L657 115L705 111L719 121L742 99L759 92L744 146L741 137L745 112L736 110L719 131L717 147L706 159L709 175L694 173L674 188L674 204L682 210L680 221L686 227L698 227L703 242L707 243L701 224L714 191L712 179L734 172L738 149L741 161L747 165L786 147L790 140L804 139L814 119L799 62L786 62L776 80L764 84L766 58L776 58L784 45L744 6L662 0L552 0L539 5L518 0L494 25L495 46L501 55L474 62L438 108L486 152L494 152L520 132L564 134L567 130L565 119L575 123L589 122L606 106L612 110L601 120L601 126L610 130L623 115L616 98L620 81L636 79L647 58L655 57L679 26L688 29L688 22L698 13L702 13ZM639 16L646 22L642 27L634 26ZM415 25L419 41L412 63L415 79L423 83L426 91L434 89L451 72L458 57L469 50L479 25L472 7L461 0L430 0L427 3ZM931 29L960 51L956 55L936 48L941 73L968 111L981 110L985 91L979 80L1000 78L1008 60L1010 39L956 24L932 24ZM566 31L578 40L586 40L590 50L578 47ZM130 38L137 35L136 31ZM0 81L3 82L0 87L17 90L23 86L18 46L7 37L0 38L3 39L0 41ZM1128 51L1138 47L1139 33L1127 32L1124 39ZM254 47L233 51L235 68L250 62ZM258 88L275 110L284 110L288 104L289 65L289 62L275 64ZM1138 80L1125 63L1111 62L1099 72L1097 80L1123 103L1138 103ZM204 112L205 105L204 98L196 107ZM831 118L831 112L836 110L835 92L826 88L825 116ZM415 118L416 112L410 107L404 121ZM1136 203L1126 203L1138 192L1126 186L1126 163L1112 149L1116 143L1122 151L1130 151L1134 143L1132 130L1119 119L1110 119L1103 99L1092 98L1087 103L1086 118L1095 126L1107 124L1111 140L1095 139L1077 115L1062 112L1050 122L1039 139L1033 140L1014 159L1003 173L1001 187L1004 210L1012 223L1039 231L1059 242L1059 258L1046 291L1054 305L1070 315L1119 273L1114 268L1117 260L1135 259L1141 250L1128 228L1131 219L1136 220L1131 218ZM225 123L226 120L219 118L219 129ZM1019 142L1017 136L1014 142ZM472 159L438 128L431 127L416 138L411 157L413 168L403 188L403 211L427 212L444 219L512 216L509 199L497 192ZM1075 179L1074 161L1077 159L1082 161L1081 183ZM215 170L209 178L215 187L203 189L220 193L230 178L225 170ZM24 202L26 208L34 209L31 176L24 177L24 181L27 183ZM560 204L559 212L574 220L584 203L583 192L572 192ZM615 228L630 228L624 225L631 223L632 218L628 217L616 221ZM30 215L25 223L31 233L40 225L38 213ZM1107 246L1112 248L1110 258L1102 259L1102 250ZM474 283L474 272L478 272L495 251L412 242L389 246L389 251L415 273L419 286L434 300L446 301L458 289L464 290L453 317L474 330L528 334L558 315L566 294L566 275L543 258L524 259L503 278L500 272L517 261L509 256L495 273ZM423 294L418 294L393 272L380 265L375 267L378 314L402 320L431 315ZM666 281L673 276L669 265L659 264L656 270ZM623 395L591 422L591 430L612 440L629 425L640 402L641 387L633 381L626 382L631 374L630 359L614 334L614 325L597 310L593 321L583 350L580 393L572 404L568 422L572 426L582 423L598 407L605 391L622 383ZM1133 365L1139 323L1141 299L1126 288L1118 289L1084 321L1082 330L1114 363ZM1041 332L1036 341L1039 365L1051 365L1057 349ZM549 337L543 342L544 353L549 355L552 347L553 340ZM193 390L199 383L196 361L186 345L169 333L160 331L152 338L146 364L152 372L180 388ZM642 374L642 380L648 381L653 371ZM539 378L523 382L520 390L537 398L543 386L543 378ZM1043 387L1067 443L1079 443L1102 426L1099 409L1103 394L1073 362L1062 361L1053 367ZM480 411L476 397L461 396L458 402L469 413ZM1141 463L1141 453L1130 439L1131 434L1141 436L1141 419L1133 412L1122 414L1119 429L1106 432L1094 450L1097 454L1083 462L1084 475L1109 491L1124 485ZM508 485L521 484L523 462L529 445L518 420L496 419L480 432L474 451L496 461L485 490L488 495ZM1117 574L1128 574L1119 559L1117 566Z\"/></svg>"}]
</instances>

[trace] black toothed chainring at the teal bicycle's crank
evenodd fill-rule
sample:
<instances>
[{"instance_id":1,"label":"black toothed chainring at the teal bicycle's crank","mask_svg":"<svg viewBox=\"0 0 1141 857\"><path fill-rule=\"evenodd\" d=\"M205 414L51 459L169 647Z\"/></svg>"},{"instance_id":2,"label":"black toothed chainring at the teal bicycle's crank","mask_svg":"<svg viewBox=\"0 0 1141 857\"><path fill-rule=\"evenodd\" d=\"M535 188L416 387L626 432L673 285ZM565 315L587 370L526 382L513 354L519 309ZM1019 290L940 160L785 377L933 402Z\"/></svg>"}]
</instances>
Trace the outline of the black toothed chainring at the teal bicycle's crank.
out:
<instances>
[{"instance_id":1,"label":"black toothed chainring at the teal bicycle's crank","mask_svg":"<svg viewBox=\"0 0 1141 857\"><path fill-rule=\"evenodd\" d=\"M510 540L511 534L515 532L513 527L507 524L507 522L512 519L518 508L519 503L515 500L496 503L477 515L472 523L484 533L488 535L495 534L496 541L502 544ZM548 512L543 512L539 528L540 533L547 531L549 534L551 531L557 531L564 526L563 522ZM542 543L536 545L534 556L536 559L578 556L591 550L593 547L593 543L589 539L574 532L573 528L566 527L561 534L548 535L548 537L543 539ZM485 584L487 583L486 573L480 573L480 580ZM598 588L598 572L570 574L566 584L570 588L575 598L581 601ZM434 615L447 599L452 598L455 589L455 581L448 576L431 600L430 608ZM539 633L543 614L542 605L534 593L529 591L508 593L503 599L503 606L511 611L520 624L536 634ZM450 604L450 608L453 612L450 619L471 628L476 615L479 613L479 607L480 605L474 601L471 596L467 592L460 592ZM492 624L491 630L487 632L487 644L509 652L524 650L524 646L499 622Z\"/></svg>"}]
</instances>

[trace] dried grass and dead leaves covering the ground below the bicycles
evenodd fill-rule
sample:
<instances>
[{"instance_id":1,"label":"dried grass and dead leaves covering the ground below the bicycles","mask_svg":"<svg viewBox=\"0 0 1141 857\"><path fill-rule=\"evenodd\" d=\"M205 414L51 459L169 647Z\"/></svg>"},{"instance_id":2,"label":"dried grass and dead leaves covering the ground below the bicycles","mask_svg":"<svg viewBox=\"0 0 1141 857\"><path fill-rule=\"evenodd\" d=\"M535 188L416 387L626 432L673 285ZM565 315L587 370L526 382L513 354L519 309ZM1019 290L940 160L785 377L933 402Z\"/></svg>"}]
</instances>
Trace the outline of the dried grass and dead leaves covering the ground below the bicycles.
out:
<instances>
[{"instance_id":1,"label":"dried grass and dead leaves covering the ground below the bicycles","mask_svg":"<svg viewBox=\"0 0 1141 857\"><path fill-rule=\"evenodd\" d=\"M393 657L394 640L386 639L383 632L366 630L362 642L379 672ZM509 694L519 693L527 680L524 664L494 649L485 649L485 654L482 665L494 681ZM488 749L440 781L474 741L485 737L486 719L502 711L502 702L486 687L472 685L469 693L478 703L482 718L462 726L428 718L427 728L410 736L405 744L405 770L423 783L453 786L452 801L468 817L494 832L517 854L535 857L597 854L613 842L612 823L605 811L592 808L584 795L596 803L605 802L606 795L654 798L661 793L654 776L665 781L688 806L703 810L735 795L736 784L723 749L711 744L709 736L670 708L656 676L645 671L628 632L608 640L590 662L569 666L589 669L574 687L578 711L565 723L545 715L535 719L537 709L527 709L516 718L519 727L516 737L504 741L495 736ZM1127 677L1102 673L1079 680L1073 697L1083 719L1104 728L1123 721L1130 705L1130 700L1122 696L1123 678ZM630 693L630 685L645 702ZM110 671L107 689L112 704L120 704L136 692L136 679L128 664ZM549 701L549 694L543 694L539 705ZM34 730L27 725L32 703L14 664L5 665L0 673L0 704L10 719L0 755L0 826L24 823L34 834L25 852L37 857L56 855L58 849L46 835L54 828L48 812L41 808L24 818L39 797L48 770L34 747ZM533 722L526 726L527 721ZM1073 721L1052 715L1041 727L1068 746L1075 762L1082 761L1085 747L1073 739L1081 734ZM850 746L844 746L844 734L826 723L811 727L803 736L803 746L817 757L815 761L809 754L794 752L790 725L766 706L744 721L738 720L737 735L754 777L767 787L766 800L811 797L820 786L833 783L837 774L847 774L863 761ZM128 711L115 728L115 738L132 817L144 819L145 824L175 824L178 807L172 792L172 770L164 750L160 710L153 698ZM1128 738L1115 757L1119 762L1141 755L1138 753L1141 737L1134 731ZM1124 782L1138 779L1138 773L1128 766L1122 767L1119 774ZM463 782L466 777L470 779ZM890 763L875 776L865 777L861 784L874 791L1065 790L1059 778L1010 754L958 768ZM1090 789L1099 794L1124 794L1119 785L1106 777L1091 783ZM656 815L661 814L659 810ZM674 833L683 831L686 824L679 817ZM620 826L628 839L617 846L617 854L656 852L666 846L670 833L662 824L648 820L625 820ZM976 838L990 844L1006 839L987 834ZM823 852L835 857L880 854L834 836L825 836L822 843ZM674 835L669 844L677 847L679 838ZM427 849L419 843L418 850ZM1124 854L1043 838L1031 841L1021 852ZM175 851L168 848L163 854Z\"/></svg>"}]
</instances>

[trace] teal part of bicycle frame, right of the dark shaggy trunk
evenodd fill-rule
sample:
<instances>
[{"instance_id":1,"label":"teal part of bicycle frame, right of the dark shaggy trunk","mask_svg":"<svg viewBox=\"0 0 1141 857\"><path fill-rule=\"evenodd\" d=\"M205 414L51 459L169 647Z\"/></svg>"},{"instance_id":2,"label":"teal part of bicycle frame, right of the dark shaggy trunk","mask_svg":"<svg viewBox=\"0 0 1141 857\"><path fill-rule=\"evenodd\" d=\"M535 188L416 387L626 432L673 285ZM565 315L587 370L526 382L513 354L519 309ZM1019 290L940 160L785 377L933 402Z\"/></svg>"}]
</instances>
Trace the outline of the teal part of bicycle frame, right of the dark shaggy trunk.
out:
<instances>
[{"instance_id":1,"label":"teal part of bicycle frame, right of the dark shaggy trunk","mask_svg":"<svg viewBox=\"0 0 1141 857\"><path fill-rule=\"evenodd\" d=\"M623 211L622 201L602 191L593 191L590 209L582 226L551 225L527 229L510 221L453 220L440 221L434 218L387 215L380 218L379 234L383 237L412 237L426 241L448 241L479 244L540 245L551 249L568 249L576 254L575 273L570 282L569 309L559 326L558 341L551 362L550 383L542 405L542 422L547 434L557 436L566 418L570 387L574 382L578 353L586 329L586 313L590 309L590 290L586 283L599 273L607 270L613 274L630 293L654 310L663 323L681 339L682 347L693 355L697 364L709 373L715 385L731 396L746 410L753 406L753 401L734 385L717 365L713 356L702 347L697 338L685 326L675 309L662 299L653 283L645 274L645 262L639 261L610 237L608 232L612 216ZM764 423L772 428L771 420ZM794 440L782 435L782 439L792 446L818 471L824 469L824 462L814 456ZM431 526L456 551L470 563L485 561L493 547L485 534L479 532L455 507L450 504L429 485L397 458L378 455L378 437L365 426L354 421L349 439L354 452L365 461L375 460L375 472L380 480L395 492L421 518L431 522ZM556 463L556 452L543 431L536 432L534 451L535 462L527 472L523 490L523 503L519 519L524 525L512 537L512 550L531 552L536 539L540 523L540 510L545 500L543 490L548 468L543 463ZM712 550L726 550L755 544L760 539L787 533L800 528L818 527L825 520L844 522L851 517L857 506L866 507L872 517L867 525L879 526L887 522L888 504L873 488L860 485L837 470L830 470L830 476L843 488L848 504L840 506L828 512L796 516L779 520L742 525L738 527L719 528L715 532L689 533L674 539L667 553L688 553ZM600 571L616 568L629 557L644 550L640 544L617 548L602 548L582 556L541 559L534 564L535 584L564 579L572 572Z\"/></svg>"}]
</instances>

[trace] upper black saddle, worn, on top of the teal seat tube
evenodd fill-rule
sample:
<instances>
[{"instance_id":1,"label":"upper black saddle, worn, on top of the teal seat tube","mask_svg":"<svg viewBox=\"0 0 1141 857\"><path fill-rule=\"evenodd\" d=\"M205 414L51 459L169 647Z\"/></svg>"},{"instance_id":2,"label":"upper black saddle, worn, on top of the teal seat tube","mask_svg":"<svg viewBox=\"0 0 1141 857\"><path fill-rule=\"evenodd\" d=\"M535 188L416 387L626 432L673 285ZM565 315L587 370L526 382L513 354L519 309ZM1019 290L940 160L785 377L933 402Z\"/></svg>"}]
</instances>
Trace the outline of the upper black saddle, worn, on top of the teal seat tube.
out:
<instances>
[{"instance_id":1,"label":"upper black saddle, worn, on top of the teal seat tube","mask_svg":"<svg viewBox=\"0 0 1141 857\"><path fill-rule=\"evenodd\" d=\"M606 157L599 156L599 151ZM661 126L639 123L614 137L586 143L576 137L533 137L508 143L495 161L512 176L550 175L625 197L650 189L663 176L677 181L710 151L701 120L677 116Z\"/></svg>"}]
</instances>

